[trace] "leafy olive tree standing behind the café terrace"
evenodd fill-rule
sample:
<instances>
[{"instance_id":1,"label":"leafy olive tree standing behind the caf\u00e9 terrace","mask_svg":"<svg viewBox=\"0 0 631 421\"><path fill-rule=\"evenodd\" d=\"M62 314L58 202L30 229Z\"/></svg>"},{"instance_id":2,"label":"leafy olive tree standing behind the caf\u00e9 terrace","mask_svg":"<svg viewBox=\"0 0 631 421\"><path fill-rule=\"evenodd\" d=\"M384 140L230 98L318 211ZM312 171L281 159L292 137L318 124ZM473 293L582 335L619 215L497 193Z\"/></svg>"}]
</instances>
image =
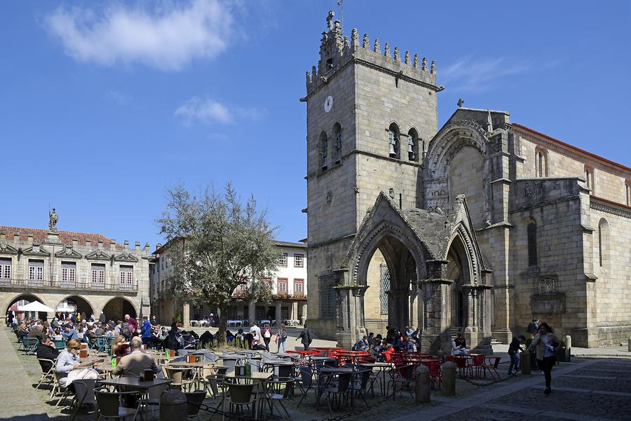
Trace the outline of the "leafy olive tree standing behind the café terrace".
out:
<instances>
[{"instance_id":1,"label":"leafy olive tree standing behind the caf\u00e9 terrace","mask_svg":"<svg viewBox=\"0 0 631 421\"><path fill-rule=\"evenodd\" d=\"M212 186L199 195L184 186L168 188L167 193L158 225L172 243L174 275L168 294L217 307L217 341L224 344L228 306L239 285L247 286L249 300L269 300L269 287L261 286L259 279L271 277L278 265L276 229L266 220L266 211L257 209L255 198L243 203L231 184L222 193Z\"/></svg>"}]
</instances>

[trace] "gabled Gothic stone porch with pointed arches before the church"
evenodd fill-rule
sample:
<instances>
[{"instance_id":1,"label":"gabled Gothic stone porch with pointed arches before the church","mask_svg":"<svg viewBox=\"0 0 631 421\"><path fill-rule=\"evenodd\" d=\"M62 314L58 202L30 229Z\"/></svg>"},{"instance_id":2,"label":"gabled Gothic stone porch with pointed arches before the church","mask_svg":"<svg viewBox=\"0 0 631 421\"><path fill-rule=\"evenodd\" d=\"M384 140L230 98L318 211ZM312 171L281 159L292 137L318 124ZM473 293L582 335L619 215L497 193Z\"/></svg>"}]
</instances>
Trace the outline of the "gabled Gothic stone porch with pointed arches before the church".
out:
<instances>
[{"instance_id":1,"label":"gabled Gothic stone porch with pointed arches before the church","mask_svg":"<svg viewBox=\"0 0 631 421\"><path fill-rule=\"evenodd\" d=\"M388 325L421 326L421 348L449 351L453 330L484 349L490 344L489 285L463 196L442 210L402 211L384 193L369 209L353 244L335 270L337 339L349 345L367 333L367 273L379 250L390 274Z\"/></svg>"}]
</instances>

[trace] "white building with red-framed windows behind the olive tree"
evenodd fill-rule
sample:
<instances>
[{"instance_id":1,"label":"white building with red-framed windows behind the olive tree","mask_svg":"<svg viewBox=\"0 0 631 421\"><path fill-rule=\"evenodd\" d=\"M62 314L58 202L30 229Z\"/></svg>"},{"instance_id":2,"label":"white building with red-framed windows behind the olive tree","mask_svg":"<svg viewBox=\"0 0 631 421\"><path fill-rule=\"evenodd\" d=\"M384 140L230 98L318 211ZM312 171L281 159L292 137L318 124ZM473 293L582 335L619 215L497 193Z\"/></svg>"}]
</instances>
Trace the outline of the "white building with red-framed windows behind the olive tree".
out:
<instances>
[{"instance_id":1,"label":"white building with red-framed windows behind the olive tree","mask_svg":"<svg viewBox=\"0 0 631 421\"><path fill-rule=\"evenodd\" d=\"M226 320L252 324L255 320L276 320L301 324L306 318L306 279L307 256L306 245L299 242L275 242L278 247L278 268L269 279L271 303L247 302L245 285L238 287L232 295L227 315L220 315L212 303L189 305L180 303L167 294L170 279L175 276L170 249L173 242L164 246L158 244L151 261L151 308L162 324L170 324L172 320L189 326L191 322L205 319L212 315L225 317ZM195 323L194 323L195 324ZM277 325L279 323L277 322Z\"/></svg>"}]
</instances>

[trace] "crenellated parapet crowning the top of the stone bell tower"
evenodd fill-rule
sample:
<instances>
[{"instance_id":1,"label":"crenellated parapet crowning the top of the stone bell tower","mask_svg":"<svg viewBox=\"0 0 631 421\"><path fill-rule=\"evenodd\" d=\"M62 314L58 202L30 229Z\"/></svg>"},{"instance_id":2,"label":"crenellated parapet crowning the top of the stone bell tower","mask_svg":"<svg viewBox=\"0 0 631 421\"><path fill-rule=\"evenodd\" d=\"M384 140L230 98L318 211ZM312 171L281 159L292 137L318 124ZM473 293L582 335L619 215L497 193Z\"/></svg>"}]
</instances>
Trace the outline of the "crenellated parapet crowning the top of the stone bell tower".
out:
<instances>
[{"instance_id":1,"label":"crenellated parapet crowning the top of the stone bell tower","mask_svg":"<svg viewBox=\"0 0 631 421\"><path fill-rule=\"evenodd\" d=\"M364 34L361 41L357 29L351 31L350 39L341 31L339 20L334 20L332 11L327 15L327 31L322 33L320 40L320 60L317 67L306 72L307 93L313 92L348 62L354 61L369 67L381 69L394 77L413 83L427 85L428 88L439 91L442 87L436 85L436 62L432 61L428 67L426 57L406 50L401 55L398 46L391 49L390 43L385 43L384 53L381 53L379 39L370 43L368 34Z\"/></svg>"}]
</instances>

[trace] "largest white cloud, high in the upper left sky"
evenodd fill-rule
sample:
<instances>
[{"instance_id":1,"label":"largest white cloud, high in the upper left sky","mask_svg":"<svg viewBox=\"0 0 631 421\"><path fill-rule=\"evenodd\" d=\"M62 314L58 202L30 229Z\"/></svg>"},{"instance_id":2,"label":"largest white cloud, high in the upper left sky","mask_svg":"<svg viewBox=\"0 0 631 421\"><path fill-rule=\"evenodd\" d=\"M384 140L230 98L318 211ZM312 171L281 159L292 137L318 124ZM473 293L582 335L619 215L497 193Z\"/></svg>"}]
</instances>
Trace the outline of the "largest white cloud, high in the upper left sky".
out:
<instances>
[{"instance_id":1,"label":"largest white cloud, high in the upper left sky","mask_svg":"<svg viewBox=\"0 0 631 421\"><path fill-rule=\"evenodd\" d=\"M226 4L192 0L149 5L118 4L102 11L60 7L46 17L46 26L68 55L98 64L142 63L178 71L194 59L212 58L226 49L233 25Z\"/></svg>"}]
</instances>

